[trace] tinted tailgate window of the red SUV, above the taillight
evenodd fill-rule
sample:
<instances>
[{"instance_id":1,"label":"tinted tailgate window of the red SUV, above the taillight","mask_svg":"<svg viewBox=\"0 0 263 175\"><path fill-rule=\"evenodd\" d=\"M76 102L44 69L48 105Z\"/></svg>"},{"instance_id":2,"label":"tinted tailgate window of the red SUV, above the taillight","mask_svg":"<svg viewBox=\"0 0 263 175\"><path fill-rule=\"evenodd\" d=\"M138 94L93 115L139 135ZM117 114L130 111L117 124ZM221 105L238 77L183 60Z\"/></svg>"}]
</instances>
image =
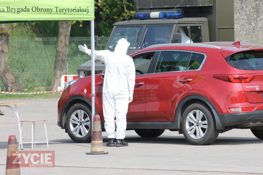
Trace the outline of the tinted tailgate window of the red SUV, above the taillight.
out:
<instances>
[{"instance_id":1,"label":"tinted tailgate window of the red SUV, above the taillight","mask_svg":"<svg viewBox=\"0 0 263 175\"><path fill-rule=\"evenodd\" d=\"M242 70L263 70L263 51L238 52L230 56L232 67Z\"/></svg>"}]
</instances>

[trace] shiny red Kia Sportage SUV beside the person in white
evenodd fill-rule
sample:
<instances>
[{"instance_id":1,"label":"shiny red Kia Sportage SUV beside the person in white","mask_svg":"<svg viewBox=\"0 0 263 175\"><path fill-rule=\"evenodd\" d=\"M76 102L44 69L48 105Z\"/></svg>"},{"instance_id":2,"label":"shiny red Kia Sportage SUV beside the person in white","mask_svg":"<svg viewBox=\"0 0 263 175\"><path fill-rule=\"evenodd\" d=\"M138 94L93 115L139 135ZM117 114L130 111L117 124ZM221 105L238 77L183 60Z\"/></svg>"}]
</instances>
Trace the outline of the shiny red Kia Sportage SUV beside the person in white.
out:
<instances>
[{"instance_id":1,"label":"shiny red Kia Sportage SUV beside the person in white","mask_svg":"<svg viewBox=\"0 0 263 175\"><path fill-rule=\"evenodd\" d=\"M145 138L165 129L194 145L219 133L250 129L263 140L263 47L211 42L153 45L130 55L136 67L127 130ZM152 61L151 61L152 57ZM102 112L103 73L95 75L95 114ZM91 141L91 76L65 85L58 126L75 142Z\"/></svg>"}]
</instances>

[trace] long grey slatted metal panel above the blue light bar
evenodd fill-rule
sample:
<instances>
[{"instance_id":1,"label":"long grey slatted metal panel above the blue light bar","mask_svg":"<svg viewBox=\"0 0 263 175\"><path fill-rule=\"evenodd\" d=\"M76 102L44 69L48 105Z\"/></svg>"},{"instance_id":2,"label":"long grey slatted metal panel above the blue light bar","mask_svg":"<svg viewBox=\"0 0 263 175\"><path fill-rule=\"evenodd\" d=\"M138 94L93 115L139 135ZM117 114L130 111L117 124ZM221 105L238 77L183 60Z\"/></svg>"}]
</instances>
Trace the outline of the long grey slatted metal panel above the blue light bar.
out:
<instances>
[{"instance_id":1,"label":"long grey slatted metal panel above the blue light bar","mask_svg":"<svg viewBox=\"0 0 263 175\"><path fill-rule=\"evenodd\" d=\"M137 8L213 6L213 0L135 0Z\"/></svg>"}]
</instances>

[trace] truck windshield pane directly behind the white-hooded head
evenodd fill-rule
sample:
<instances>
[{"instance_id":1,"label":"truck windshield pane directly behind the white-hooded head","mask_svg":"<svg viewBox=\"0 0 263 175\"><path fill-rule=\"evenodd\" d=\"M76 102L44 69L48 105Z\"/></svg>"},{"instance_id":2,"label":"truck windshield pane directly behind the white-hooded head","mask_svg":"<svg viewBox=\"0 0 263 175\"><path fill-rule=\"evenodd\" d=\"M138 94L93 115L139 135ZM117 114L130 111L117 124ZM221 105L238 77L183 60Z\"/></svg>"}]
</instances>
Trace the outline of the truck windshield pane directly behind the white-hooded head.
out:
<instances>
[{"instance_id":1,"label":"truck windshield pane directly behind the white-hooded head","mask_svg":"<svg viewBox=\"0 0 263 175\"><path fill-rule=\"evenodd\" d=\"M117 41L121 38L125 38L130 44L128 49L135 49L142 27L116 27L115 32L111 38L111 43L108 49L115 49Z\"/></svg>"}]
</instances>

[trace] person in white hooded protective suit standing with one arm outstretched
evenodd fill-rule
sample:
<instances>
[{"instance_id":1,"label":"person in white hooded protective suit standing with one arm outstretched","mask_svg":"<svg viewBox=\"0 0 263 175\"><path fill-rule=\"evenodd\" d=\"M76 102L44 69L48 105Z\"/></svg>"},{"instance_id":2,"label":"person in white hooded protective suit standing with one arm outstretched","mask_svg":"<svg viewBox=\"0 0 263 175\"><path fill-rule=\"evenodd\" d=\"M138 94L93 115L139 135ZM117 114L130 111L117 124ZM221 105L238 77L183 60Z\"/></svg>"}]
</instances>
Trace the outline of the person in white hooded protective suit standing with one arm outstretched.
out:
<instances>
[{"instance_id":1,"label":"person in white hooded protective suit standing with one arm outstretched","mask_svg":"<svg viewBox=\"0 0 263 175\"><path fill-rule=\"evenodd\" d=\"M105 130L109 138L107 146L128 146L123 139L126 131L128 104L132 101L135 85L135 66L133 59L126 55L130 43L122 38L114 52L94 51L95 59L105 63L105 76L102 90ZM79 45L78 49L91 56L91 50ZM114 119L116 117L116 120ZM116 132L115 132L116 123Z\"/></svg>"}]
</instances>

